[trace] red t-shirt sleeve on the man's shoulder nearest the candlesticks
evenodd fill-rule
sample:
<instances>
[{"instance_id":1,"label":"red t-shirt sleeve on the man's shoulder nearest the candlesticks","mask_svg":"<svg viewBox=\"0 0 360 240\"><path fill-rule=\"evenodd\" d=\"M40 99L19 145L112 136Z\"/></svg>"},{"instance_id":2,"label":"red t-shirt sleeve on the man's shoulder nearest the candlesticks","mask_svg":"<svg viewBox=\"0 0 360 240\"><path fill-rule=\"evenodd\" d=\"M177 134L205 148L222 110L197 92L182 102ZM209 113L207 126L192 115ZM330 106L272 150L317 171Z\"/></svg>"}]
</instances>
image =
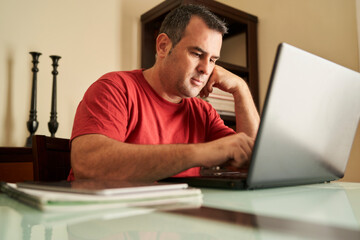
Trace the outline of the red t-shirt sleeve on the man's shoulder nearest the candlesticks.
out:
<instances>
[{"instance_id":1,"label":"red t-shirt sleeve on the man's shoulder nearest the candlesticks","mask_svg":"<svg viewBox=\"0 0 360 240\"><path fill-rule=\"evenodd\" d=\"M89 87L77 108L71 140L85 134L103 134L124 141L127 121L125 88L100 79Z\"/></svg>"}]
</instances>

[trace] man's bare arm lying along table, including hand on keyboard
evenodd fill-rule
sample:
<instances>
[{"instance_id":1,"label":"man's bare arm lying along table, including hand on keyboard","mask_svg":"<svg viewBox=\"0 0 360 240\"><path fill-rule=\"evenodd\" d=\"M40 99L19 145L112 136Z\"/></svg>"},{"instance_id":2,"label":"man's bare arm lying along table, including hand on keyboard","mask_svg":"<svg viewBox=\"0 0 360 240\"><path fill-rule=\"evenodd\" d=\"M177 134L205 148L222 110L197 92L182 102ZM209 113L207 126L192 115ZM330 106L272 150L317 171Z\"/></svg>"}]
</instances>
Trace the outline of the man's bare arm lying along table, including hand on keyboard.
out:
<instances>
[{"instance_id":1,"label":"man's bare arm lying along table, including hand on keyboard","mask_svg":"<svg viewBox=\"0 0 360 240\"><path fill-rule=\"evenodd\" d=\"M254 140L245 133L199 144L128 144L99 134L72 141L71 165L76 179L157 181L192 167L248 163Z\"/></svg>"}]
</instances>

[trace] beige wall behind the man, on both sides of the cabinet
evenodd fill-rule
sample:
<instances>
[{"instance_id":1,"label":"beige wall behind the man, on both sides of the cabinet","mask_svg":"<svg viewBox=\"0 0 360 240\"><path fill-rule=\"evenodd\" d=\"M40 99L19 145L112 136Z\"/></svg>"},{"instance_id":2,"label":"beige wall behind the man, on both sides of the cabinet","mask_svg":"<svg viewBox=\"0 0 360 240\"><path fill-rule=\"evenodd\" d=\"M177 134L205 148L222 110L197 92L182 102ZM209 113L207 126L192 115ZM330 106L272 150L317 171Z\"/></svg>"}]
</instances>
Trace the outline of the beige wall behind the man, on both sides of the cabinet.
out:
<instances>
[{"instance_id":1,"label":"beige wall behind the man, on both sides of the cabinet","mask_svg":"<svg viewBox=\"0 0 360 240\"><path fill-rule=\"evenodd\" d=\"M259 18L261 103L279 42L359 70L356 1L219 0ZM160 2L0 0L0 146L22 146L28 135L29 51L43 53L38 74L37 134L49 134L52 68L48 56L62 56L56 135L68 138L77 104L87 87L105 72L140 66L140 15ZM360 131L346 180L360 181L359 151Z\"/></svg>"}]
</instances>

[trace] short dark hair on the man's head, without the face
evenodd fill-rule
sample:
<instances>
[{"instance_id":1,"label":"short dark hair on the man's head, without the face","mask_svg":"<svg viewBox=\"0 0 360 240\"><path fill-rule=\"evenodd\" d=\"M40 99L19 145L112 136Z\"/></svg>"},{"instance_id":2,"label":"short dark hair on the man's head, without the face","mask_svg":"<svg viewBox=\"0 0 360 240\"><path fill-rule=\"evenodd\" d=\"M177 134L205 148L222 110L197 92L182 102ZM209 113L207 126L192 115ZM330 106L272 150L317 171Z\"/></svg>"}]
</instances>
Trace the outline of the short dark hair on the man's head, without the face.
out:
<instances>
[{"instance_id":1,"label":"short dark hair on the man's head, without the face","mask_svg":"<svg viewBox=\"0 0 360 240\"><path fill-rule=\"evenodd\" d=\"M168 13L161 24L160 33L165 33L170 38L173 47L180 42L185 28L192 16L200 17L205 24L222 35L226 34L228 28L226 23L220 20L214 13L201 5L186 4Z\"/></svg>"}]
</instances>

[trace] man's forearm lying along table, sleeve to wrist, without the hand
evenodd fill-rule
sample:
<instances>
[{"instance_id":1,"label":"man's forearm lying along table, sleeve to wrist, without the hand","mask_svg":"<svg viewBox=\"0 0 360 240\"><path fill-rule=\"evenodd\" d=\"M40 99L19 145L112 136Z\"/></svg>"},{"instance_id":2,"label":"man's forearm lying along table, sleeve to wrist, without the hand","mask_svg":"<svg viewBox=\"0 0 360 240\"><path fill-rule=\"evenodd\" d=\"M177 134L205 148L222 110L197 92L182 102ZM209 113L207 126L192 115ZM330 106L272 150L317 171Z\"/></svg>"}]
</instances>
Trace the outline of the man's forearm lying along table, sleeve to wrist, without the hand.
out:
<instances>
[{"instance_id":1,"label":"man's forearm lying along table, sleeve to wrist, without the hand","mask_svg":"<svg viewBox=\"0 0 360 240\"><path fill-rule=\"evenodd\" d=\"M75 178L155 181L198 166L193 144L127 144L103 135L85 135L72 142Z\"/></svg>"}]
</instances>

